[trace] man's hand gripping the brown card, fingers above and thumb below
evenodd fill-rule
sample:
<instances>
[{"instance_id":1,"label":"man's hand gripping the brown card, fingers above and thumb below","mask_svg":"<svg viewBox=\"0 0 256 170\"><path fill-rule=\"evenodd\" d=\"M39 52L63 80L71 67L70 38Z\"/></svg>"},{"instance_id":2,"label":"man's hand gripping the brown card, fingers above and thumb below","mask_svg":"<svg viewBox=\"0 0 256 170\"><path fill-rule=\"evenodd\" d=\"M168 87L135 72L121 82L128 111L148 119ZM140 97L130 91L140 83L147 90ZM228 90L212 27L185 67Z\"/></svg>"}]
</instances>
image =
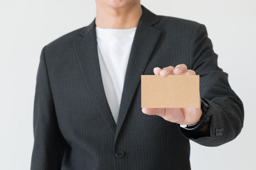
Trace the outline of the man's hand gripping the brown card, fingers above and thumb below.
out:
<instances>
[{"instance_id":1,"label":"man's hand gripping the brown card, fingers above and thumb below","mask_svg":"<svg viewBox=\"0 0 256 170\"><path fill-rule=\"evenodd\" d=\"M191 69L187 69L185 64L178 64L175 68L172 66L154 68L155 75L166 77L168 75L196 75ZM142 108L142 112L147 115L159 115L165 120L181 125L192 125L197 123L202 115L201 108Z\"/></svg>"}]
</instances>

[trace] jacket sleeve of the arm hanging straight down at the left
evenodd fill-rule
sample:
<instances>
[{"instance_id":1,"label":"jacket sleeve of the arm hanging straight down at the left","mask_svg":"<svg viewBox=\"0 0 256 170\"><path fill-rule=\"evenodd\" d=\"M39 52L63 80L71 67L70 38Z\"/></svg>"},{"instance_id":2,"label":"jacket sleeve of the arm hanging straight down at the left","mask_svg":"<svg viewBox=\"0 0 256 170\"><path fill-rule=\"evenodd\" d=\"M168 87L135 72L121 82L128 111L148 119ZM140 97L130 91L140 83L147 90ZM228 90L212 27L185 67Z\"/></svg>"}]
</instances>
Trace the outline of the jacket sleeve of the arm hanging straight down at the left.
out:
<instances>
[{"instance_id":1,"label":"jacket sleeve of the arm hanging straight down at the left","mask_svg":"<svg viewBox=\"0 0 256 170\"><path fill-rule=\"evenodd\" d=\"M60 169L67 143L58 128L53 96L46 68L45 48L41 52L36 76L33 107L34 144L31 170Z\"/></svg>"}]
</instances>

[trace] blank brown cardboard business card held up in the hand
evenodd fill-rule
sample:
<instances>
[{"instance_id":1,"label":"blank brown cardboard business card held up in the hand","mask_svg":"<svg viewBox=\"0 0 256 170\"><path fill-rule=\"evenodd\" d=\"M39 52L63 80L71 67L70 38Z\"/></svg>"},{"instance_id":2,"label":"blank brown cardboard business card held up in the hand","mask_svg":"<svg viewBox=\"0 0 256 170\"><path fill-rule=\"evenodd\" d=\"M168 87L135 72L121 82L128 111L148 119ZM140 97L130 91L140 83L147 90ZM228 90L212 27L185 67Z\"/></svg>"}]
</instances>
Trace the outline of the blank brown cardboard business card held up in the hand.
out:
<instances>
[{"instance_id":1,"label":"blank brown cardboard business card held up in the hand","mask_svg":"<svg viewBox=\"0 0 256 170\"><path fill-rule=\"evenodd\" d=\"M199 107L199 75L142 75L142 108Z\"/></svg>"}]
</instances>

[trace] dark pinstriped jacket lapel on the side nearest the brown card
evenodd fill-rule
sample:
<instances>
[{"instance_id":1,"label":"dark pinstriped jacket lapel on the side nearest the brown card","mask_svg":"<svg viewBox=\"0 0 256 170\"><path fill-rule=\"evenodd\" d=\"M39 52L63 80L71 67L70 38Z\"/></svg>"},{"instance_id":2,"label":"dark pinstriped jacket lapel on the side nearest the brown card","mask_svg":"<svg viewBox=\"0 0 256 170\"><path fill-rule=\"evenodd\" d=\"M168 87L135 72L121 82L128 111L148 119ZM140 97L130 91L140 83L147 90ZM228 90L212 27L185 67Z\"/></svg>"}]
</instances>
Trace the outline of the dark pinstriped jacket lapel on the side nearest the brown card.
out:
<instances>
[{"instance_id":1,"label":"dark pinstriped jacket lapel on the side nearest the brown card","mask_svg":"<svg viewBox=\"0 0 256 170\"><path fill-rule=\"evenodd\" d=\"M134 35L134 41L132 43L132 49L124 79L124 88L119 108L115 141L117 140L119 131L124 123L124 118L126 117L129 106L132 103L132 98L139 85L141 74L143 74L146 64L149 61L149 57L151 56L151 52L153 52L156 42L159 39L159 35L161 34L161 30L152 27L152 25L158 21L158 16L142 6L142 16Z\"/></svg>"}]
</instances>

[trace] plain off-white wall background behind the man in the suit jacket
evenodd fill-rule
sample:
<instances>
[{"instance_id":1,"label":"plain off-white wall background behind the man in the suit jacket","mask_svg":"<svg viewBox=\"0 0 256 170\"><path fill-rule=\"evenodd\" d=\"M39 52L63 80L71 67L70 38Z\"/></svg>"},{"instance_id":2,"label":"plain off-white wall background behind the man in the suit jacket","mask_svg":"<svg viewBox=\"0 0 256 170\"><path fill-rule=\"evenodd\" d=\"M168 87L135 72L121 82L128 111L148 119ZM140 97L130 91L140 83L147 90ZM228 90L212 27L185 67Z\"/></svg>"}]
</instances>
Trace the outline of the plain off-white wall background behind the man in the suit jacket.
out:
<instances>
[{"instance_id":1,"label":"plain off-white wall background behind the man in the suit jacket","mask_svg":"<svg viewBox=\"0 0 256 170\"><path fill-rule=\"evenodd\" d=\"M206 25L218 64L245 107L240 135L220 147L191 142L192 169L255 169L255 0L142 0L150 11ZM0 0L0 169L30 169L33 98L44 45L95 17L95 0ZM175 156L174 156L175 157Z\"/></svg>"}]
</instances>

